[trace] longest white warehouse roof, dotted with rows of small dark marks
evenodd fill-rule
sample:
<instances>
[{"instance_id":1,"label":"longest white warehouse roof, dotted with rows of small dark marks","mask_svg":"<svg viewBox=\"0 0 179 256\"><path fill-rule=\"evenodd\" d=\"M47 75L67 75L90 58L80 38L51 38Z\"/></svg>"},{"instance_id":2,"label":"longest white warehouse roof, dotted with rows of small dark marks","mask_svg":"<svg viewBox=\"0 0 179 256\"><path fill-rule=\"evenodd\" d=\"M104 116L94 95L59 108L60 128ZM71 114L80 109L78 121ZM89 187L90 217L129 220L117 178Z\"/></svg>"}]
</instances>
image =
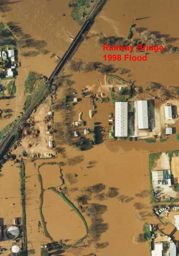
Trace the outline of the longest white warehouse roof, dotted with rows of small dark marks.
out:
<instances>
[{"instance_id":1,"label":"longest white warehouse roof, dotted with rows of small dark marks","mask_svg":"<svg viewBox=\"0 0 179 256\"><path fill-rule=\"evenodd\" d=\"M115 137L127 137L127 102L115 102Z\"/></svg>"}]
</instances>

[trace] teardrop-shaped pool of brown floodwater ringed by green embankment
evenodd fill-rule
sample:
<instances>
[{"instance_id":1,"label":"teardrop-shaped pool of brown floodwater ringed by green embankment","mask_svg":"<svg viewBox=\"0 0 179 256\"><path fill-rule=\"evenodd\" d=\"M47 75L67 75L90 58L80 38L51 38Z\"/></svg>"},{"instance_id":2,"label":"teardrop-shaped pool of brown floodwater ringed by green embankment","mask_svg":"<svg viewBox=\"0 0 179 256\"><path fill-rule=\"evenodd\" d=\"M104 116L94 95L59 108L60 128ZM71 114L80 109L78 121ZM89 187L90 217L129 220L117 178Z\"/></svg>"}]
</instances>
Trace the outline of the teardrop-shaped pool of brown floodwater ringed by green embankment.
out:
<instances>
[{"instance_id":1,"label":"teardrop-shaped pool of brown floodwater ringed by green embankment","mask_svg":"<svg viewBox=\"0 0 179 256\"><path fill-rule=\"evenodd\" d=\"M86 234L85 226L75 211L52 190L43 195L43 216L47 231L55 241L62 240L66 244L75 241Z\"/></svg>"}]
</instances>

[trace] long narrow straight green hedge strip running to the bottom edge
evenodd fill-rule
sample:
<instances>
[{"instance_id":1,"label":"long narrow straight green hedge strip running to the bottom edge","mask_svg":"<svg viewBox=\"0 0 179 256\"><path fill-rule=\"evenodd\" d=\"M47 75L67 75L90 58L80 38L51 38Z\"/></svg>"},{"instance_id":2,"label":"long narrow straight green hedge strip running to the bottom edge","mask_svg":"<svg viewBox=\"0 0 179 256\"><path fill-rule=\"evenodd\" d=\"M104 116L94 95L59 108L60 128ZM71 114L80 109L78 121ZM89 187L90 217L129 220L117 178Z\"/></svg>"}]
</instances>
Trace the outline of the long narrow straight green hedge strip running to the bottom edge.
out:
<instances>
[{"instance_id":1,"label":"long narrow straight green hedge strip running to the bottom edge","mask_svg":"<svg viewBox=\"0 0 179 256\"><path fill-rule=\"evenodd\" d=\"M19 163L20 176L20 193L22 204L22 229L23 229L23 255L27 256L27 230L26 230L26 193L25 193L25 166L24 162L20 160Z\"/></svg>"}]
</instances>

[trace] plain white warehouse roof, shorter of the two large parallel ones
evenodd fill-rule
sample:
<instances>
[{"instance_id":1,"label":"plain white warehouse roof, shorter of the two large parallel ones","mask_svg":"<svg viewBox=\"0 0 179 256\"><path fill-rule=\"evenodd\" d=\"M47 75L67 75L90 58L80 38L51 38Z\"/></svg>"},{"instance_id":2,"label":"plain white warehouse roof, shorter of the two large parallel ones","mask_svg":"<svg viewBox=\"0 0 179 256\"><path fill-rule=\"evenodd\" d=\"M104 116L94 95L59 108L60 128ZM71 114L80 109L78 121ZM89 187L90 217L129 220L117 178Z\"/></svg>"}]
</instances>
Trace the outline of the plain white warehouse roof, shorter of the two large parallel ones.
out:
<instances>
[{"instance_id":1,"label":"plain white warehouse roof, shorter of the two large parallel ones","mask_svg":"<svg viewBox=\"0 0 179 256\"><path fill-rule=\"evenodd\" d=\"M148 129L148 105L147 101L137 101L138 129Z\"/></svg>"}]
</instances>

